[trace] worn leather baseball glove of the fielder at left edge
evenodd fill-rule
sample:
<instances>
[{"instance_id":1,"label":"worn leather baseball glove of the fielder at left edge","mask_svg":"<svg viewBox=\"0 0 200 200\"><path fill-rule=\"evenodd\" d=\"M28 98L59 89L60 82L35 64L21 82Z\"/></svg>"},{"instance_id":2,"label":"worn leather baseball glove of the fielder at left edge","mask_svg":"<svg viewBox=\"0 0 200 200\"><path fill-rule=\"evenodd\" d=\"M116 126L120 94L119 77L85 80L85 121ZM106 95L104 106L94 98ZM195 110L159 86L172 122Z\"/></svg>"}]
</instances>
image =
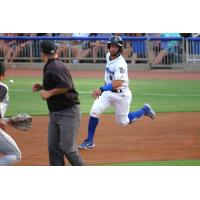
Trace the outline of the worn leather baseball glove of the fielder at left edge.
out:
<instances>
[{"instance_id":1,"label":"worn leather baseball glove of the fielder at left edge","mask_svg":"<svg viewBox=\"0 0 200 200\"><path fill-rule=\"evenodd\" d=\"M10 117L9 124L20 131L28 131L32 125L32 117L26 113L20 113Z\"/></svg>"}]
</instances>

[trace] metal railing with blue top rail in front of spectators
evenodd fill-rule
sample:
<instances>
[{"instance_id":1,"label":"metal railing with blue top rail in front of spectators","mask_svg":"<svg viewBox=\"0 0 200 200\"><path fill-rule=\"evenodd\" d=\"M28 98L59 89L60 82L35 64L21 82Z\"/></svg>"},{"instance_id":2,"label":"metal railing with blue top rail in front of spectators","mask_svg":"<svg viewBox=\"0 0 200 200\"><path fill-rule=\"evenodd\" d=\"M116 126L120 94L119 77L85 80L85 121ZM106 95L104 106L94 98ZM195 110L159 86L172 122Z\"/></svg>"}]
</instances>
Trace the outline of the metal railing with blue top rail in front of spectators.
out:
<instances>
[{"instance_id":1,"label":"metal railing with blue top rail in front of spectators","mask_svg":"<svg viewBox=\"0 0 200 200\"><path fill-rule=\"evenodd\" d=\"M41 62L40 44L54 40L66 63L104 63L108 37L0 37L0 60ZM200 39L123 37L123 56L129 64L167 67L200 61Z\"/></svg>"}]
</instances>

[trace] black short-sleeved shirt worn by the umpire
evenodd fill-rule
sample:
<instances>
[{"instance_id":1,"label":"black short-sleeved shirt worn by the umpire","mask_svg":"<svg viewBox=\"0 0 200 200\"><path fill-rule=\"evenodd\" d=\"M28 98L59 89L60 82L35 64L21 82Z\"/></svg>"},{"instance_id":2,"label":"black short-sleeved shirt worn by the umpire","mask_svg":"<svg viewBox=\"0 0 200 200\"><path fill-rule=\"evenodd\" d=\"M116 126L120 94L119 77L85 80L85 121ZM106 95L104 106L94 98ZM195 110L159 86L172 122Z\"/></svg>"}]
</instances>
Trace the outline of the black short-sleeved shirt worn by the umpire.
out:
<instances>
[{"instance_id":1,"label":"black short-sleeved shirt worn by the umpire","mask_svg":"<svg viewBox=\"0 0 200 200\"><path fill-rule=\"evenodd\" d=\"M71 74L67 67L58 59L49 59L43 69L43 87L45 90L67 88L66 93L47 99L50 112L61 111L80 104L78 92L75 90Z\"/></svg>"}]
</instances>

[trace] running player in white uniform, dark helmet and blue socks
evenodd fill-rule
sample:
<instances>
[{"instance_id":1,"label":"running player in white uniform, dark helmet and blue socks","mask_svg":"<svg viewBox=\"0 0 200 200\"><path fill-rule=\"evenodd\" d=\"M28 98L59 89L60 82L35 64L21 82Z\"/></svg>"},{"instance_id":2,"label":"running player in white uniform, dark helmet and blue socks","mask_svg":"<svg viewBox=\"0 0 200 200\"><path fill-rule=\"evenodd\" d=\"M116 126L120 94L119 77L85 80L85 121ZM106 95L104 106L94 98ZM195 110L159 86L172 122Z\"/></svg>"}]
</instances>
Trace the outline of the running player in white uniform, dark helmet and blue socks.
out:
<instances>
[{"instance_id":1,"label":"running player in white uniform, dark helmet and blue socks","mask_svg":"<svg viewBox=\"0 0 200 200\"><path fill-rule=\"evenodd\" d=\"M93 91L95 98L88 123L88 136L78 147L79 149L90 149L95 147L94 134L99 123L100 115L110 106L114 107L116 122L121 126L133 123L137 119L148 116L155 118L155 112L149 104L135 111L129 112L132 93L129 90L128 67L122 57L123 40L119 36L109 39L106 55L105 85Z\"/></svg>"}]
</instances>

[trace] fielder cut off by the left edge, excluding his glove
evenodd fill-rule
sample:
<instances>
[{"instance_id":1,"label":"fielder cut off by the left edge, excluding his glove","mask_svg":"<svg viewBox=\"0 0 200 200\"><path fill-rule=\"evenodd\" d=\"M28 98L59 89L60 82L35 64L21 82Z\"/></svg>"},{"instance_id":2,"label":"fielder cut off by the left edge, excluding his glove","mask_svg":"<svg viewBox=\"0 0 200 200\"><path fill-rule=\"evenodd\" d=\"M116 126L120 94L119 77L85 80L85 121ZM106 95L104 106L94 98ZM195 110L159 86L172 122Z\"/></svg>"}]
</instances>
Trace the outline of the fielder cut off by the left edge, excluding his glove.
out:
<instances>
[{"instance_id":1,"label":"fielder cut off by the left edge, excluding his glove","mask_svg":"<svg viewBox=\"0 0 200 200\"><path fill-rule=\"evenodd\" d=\"M8 86L2 83L5 77L5 67L0 63L0 166L13 165L21 159L21 152L11 136L5 132L6 122L3 120L8 102Z\"/></svg>"}]
</instances>

